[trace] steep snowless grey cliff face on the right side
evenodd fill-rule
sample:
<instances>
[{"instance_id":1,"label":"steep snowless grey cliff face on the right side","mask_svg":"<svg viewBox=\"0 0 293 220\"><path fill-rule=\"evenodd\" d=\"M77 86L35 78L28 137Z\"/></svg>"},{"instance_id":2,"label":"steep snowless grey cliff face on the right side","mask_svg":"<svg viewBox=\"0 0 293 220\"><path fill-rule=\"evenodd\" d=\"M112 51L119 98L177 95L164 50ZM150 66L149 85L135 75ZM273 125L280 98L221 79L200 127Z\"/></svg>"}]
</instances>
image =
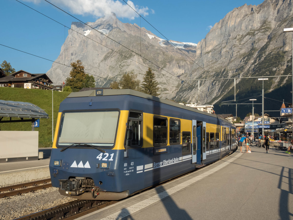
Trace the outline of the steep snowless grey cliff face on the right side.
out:
<instances>
[{"instance_id":1,"label":"steep snowless grey cliff face on the right side","mask_svg":"<svg viewBox=\"0 0 293 220\"><path fill-rule=\"evenodd\" d=\"M206 71L196 67L190 78L281 75L291 55L292 34L283 33L283 28L292 27L292 13L289 0L266 0L258 6L245 4L235 8L197 44L196 61ZM247 80L236 80L237 91L243 81ZM285 81L285 77L272 78L269 89L280 87ZM257 79L249 82L257 84ZM201 81L199 100L215 103L233 87L233 79ZM176 97L188 93L179 91Z\"/></svg>"}]
</instances>

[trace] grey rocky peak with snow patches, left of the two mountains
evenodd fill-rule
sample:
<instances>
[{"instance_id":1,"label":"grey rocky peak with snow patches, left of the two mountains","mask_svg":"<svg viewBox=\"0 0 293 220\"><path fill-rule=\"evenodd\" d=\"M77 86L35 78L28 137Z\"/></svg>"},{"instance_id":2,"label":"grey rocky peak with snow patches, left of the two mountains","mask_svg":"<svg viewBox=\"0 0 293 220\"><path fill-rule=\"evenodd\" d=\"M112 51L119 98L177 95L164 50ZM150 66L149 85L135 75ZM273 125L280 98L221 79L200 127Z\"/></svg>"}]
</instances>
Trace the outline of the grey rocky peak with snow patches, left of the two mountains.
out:
<instances>
[{"instance_id":1,"label":"grey rocky peak with snow patches, left of the two mountains","mask_svg":"<svg viewBox=\"0 0 293 220\"><path fill-rule=\"evenodd\" d=\"M171 44L136 24L122 23L114 14L87 24L97 31L79 22L72 23L74 31L69 30L56 62L69 66L81 60L85 71L94 75L97 87L107 87L111 83L107 79L119 81L125 72L132 70L142 82L143 75L151 67L158 71L155 74L162 96L175 96L181 85L176 77L190 72L192 67L192 62L176 47L194 59L196 44L175 41ZM53 63L47 75L58 84L65 81L70 70L70 67Z\"/></svg>"}]
</instances>

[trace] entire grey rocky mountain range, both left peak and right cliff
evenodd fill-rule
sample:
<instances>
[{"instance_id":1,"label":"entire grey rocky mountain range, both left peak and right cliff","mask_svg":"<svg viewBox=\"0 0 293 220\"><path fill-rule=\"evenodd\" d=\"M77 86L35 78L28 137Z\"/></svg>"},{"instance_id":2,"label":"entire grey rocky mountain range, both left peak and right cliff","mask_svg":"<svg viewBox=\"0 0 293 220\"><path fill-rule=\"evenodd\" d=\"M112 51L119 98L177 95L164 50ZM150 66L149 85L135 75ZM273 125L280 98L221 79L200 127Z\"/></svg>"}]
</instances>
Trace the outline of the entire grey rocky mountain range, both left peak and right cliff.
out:
<instances>
[{"instance_id":1,"label":"entire grey rocky mountain range, both left peak and right cliff","mask_svg":"<svg viewBox=\"0 0 293 220\"><path fill-rule=\"evenodd\" d=\"M232 94L234 99L233 78L240 96L260 91L260 83L256 78L239 77L286 72L291 65L292 33L283 33L283 28L293 26L292 9L290 0L245 4L216 23L198 44L161 39L136 24L122 23L114 14L93 23L73 22L56 62L69 66L81 60L97 87L108 87L111 81L107 79L119 81L132 70L142 82L151 67L162 97L214 104ZM47 75L59 84L69 76L67 66L53 63ZM200 81L198 88L198 81L180 79L210 80ZM266 91L282 87L287 80L291 78L270 78Z\"/></svg>"}]
</instances>

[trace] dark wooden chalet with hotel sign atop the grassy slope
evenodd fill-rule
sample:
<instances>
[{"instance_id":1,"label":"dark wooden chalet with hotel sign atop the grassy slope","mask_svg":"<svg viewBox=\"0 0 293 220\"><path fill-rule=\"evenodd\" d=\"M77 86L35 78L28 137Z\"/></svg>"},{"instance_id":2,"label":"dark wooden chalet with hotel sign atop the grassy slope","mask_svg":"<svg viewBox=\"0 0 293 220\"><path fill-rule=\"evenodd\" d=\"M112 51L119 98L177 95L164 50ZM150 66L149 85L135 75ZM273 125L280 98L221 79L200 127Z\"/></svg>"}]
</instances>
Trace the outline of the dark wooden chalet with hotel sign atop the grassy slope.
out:
<instances>
[{"instance_id":1,"label":"dark wooden chalet with hotel sign atop the grassy slope","mask_svg":"<svg viewBox=\"0 0 293 220\"><path fill-rule=\"evenodd\" d=\"M33 74L19 70L11 75L0 78L0 87L51 90L52 81L45 73Z\"/></svg>"}]
</instances>

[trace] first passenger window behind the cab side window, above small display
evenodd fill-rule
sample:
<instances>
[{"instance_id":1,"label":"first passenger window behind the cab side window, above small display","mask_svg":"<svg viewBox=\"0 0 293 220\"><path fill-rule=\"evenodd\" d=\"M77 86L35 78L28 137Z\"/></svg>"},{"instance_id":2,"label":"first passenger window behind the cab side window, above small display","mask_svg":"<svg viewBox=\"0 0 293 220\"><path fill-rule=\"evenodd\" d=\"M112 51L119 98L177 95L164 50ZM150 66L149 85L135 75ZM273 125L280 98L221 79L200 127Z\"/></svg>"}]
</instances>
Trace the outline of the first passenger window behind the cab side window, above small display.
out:
<instances>
[{"instance_id":1,"label":"first passenger window behind the cab side window, above small display","mask_svg":"<svg viewBox=\"0 0 293 220\"><path fill-rule=\"evenodd\" d=\"M166 118L154 117L154 146L167 145L168 120Z\"/></svg>"}]
</instances>

